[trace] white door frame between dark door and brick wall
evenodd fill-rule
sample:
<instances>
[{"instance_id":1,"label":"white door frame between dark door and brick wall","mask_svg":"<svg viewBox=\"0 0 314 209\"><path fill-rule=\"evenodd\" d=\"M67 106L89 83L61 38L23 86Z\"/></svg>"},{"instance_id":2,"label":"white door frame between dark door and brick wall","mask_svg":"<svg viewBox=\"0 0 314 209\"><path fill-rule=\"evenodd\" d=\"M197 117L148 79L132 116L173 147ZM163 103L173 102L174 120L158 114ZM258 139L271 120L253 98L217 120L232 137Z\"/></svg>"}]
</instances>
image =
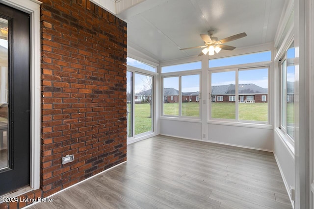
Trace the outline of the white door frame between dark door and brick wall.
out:
<instances>
[{"instance_id":1,"label":"white door frame between dark door and brick wall","mask_svg":"<svg viewBox=\"0 0 314 209\"><path fill-rule=\"evenodd\" d=\"M30 187L40 187L40 5L38 0L0 0L30 15Z\"/></svg>"}]
</instances>

